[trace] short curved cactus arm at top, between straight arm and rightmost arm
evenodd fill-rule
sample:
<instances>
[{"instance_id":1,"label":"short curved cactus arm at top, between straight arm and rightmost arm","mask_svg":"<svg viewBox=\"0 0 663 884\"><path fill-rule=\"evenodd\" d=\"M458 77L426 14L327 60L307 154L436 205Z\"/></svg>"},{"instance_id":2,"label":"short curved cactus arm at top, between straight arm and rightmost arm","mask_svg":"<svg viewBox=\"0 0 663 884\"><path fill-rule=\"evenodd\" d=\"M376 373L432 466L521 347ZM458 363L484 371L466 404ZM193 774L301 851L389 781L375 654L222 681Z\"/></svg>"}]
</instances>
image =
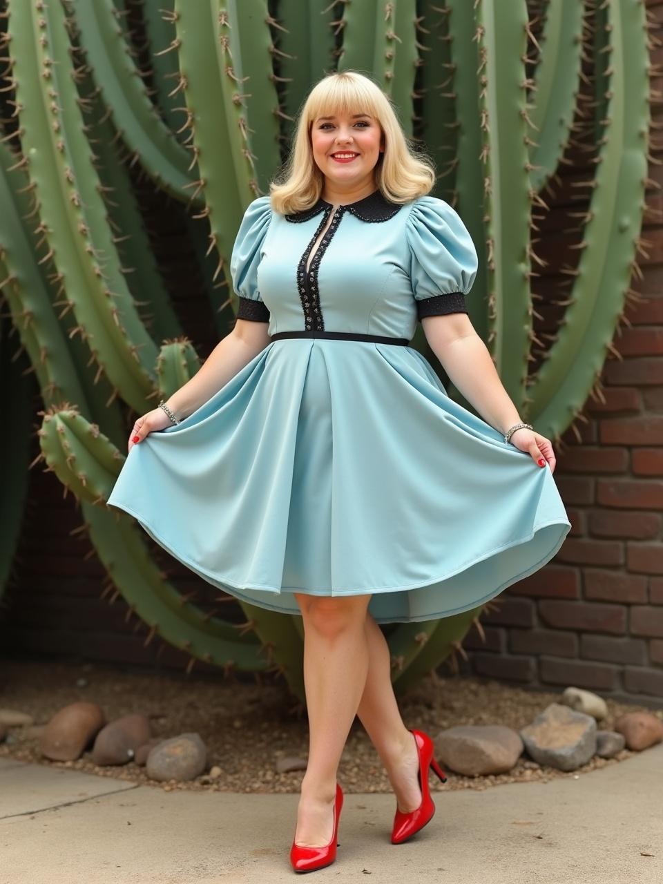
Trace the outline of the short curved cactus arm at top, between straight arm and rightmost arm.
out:
<instances>
[{"instance_id":1,"label":"short curved cactus arm at top, between straight arm and rightmost arm","mask_svg":"<svg viewBox=\"0 0 663 884\"><path fill-rule=\"evenodd\" d=\"M575 113L583 53L583 4L549 3L534 73L531 187L540 192L560 164Z\"/></svg>"}]
</instances>

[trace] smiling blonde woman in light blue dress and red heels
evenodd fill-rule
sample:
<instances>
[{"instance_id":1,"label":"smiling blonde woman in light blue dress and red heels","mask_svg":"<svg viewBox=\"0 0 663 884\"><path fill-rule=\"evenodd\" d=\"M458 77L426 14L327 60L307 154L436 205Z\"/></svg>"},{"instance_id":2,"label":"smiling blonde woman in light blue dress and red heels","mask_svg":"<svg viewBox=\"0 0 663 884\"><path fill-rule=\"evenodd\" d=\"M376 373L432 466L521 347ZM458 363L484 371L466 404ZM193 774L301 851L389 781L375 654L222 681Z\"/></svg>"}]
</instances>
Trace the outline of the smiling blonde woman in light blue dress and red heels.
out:
<instances>
[{"instance_id":1,"label":"smiling blonde woman in light blue dress and red heels","mask_svg":"<svg viewBox=\"0 0 663 884\"><path fill-rule=\"evenodd\" d=\"M320 80L285 175L242 219L233 331L136 421L109 499L215 586L301 614L298 872L336 857L355 714L395 792L392 843L435 810L429 767L444 773L400 717L378 623L475 608L541 568L570 528L552 445L521 421L469 322L476 250L434 182L375 83ZM485 419L408 346L417 320Z\"/></svg>"}]
</instances>

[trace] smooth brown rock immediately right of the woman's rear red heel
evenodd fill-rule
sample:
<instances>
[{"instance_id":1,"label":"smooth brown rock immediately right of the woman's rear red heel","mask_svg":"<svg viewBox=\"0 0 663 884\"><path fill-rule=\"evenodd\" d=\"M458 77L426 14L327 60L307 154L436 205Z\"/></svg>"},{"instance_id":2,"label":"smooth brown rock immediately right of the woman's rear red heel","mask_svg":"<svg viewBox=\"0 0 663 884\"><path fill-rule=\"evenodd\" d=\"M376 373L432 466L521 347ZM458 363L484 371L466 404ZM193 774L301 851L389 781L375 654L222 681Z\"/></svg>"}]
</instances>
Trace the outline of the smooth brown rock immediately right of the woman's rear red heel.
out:
<instances>
[{"instance_id":1,"label":"smooth brown rock immediately right of the woman's rear red heel","mask_svg":"<svg viewBox=\"0 0 663 884\"><path fill-rule=\"evenodd\" d=\"M456 773L507 773L521 756L522 739L499 724L457 725L438 735L435 749L442 766Z\"/></svg>"}]
</instances>

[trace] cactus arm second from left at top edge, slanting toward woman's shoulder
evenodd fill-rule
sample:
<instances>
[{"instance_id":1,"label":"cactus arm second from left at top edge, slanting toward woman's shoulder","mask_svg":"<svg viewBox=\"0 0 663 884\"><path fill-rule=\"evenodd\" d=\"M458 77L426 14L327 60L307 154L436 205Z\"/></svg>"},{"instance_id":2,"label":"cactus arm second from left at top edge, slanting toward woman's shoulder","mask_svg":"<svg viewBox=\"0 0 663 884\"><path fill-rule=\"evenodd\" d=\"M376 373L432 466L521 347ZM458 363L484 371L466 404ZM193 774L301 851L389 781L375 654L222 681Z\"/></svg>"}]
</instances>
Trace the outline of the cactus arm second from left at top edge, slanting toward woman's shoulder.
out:
<instances>
[{"instance_id":1,"label":"cactus arm second from left at top edge, slanting toward woman's shoulder","mask_svg":"<svg viewBox=\"0 0 663 884\"><path fill-rule=\"evenodd\" d=\"M80 42L117 131L140 157L151 178L176 199L202 209L194 194L197 174L192 158L159 117L136 69L112 0L72 3L67 10L80 32ZM195 5L195 4L192 4Z\"/></svg>"}]
</instances>

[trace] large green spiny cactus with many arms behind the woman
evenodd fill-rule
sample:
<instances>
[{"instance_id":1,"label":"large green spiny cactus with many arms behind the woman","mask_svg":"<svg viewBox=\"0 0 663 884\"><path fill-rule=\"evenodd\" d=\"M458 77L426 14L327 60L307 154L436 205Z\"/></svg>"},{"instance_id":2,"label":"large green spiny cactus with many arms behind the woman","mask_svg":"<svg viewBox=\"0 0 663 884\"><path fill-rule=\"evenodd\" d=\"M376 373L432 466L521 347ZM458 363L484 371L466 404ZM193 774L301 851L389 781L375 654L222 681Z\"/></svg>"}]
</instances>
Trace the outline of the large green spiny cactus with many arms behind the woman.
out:
<instances>
[{"instance_id":1,"label":"large green spiny cactus with many arms behind the woman","mask_svg":"<svg viewBox=\"0 0 663 884\"><path fill-rule=\"evenodd\" d=\"M219 291L242 212L285 158L309 86L334 69L370 73L434 157L436 192L473 235L470 316L507 391L560 445L600 393L598 372L636 297L653 27L644 2L5 0L2 9L0 277L42 393L37 460L78 499L107 571L103 595L126 600L146 644L158 635L179 647L187 668L204 659L256 677L276 671L302 700L301 618L218 598L208 584L182 596L156 545L105 504L133 415L200 364L150 249L135 173L189 213L190 251L225 333L221 315L236 299ZM579 148L595 161L568 216L579 257L556 268L571 285L549 303L536 280L559 259L538 232L560 166ZM430 355L421 328L413 343ZM5 482L14 511L19 473ZM0 580L14 540L0 552ZM227 601L235 621L219 615ZM388 624L396 690L449 656L455 663L472 624L483 634L480 613Z\"/></svg>"}]
</instances>

